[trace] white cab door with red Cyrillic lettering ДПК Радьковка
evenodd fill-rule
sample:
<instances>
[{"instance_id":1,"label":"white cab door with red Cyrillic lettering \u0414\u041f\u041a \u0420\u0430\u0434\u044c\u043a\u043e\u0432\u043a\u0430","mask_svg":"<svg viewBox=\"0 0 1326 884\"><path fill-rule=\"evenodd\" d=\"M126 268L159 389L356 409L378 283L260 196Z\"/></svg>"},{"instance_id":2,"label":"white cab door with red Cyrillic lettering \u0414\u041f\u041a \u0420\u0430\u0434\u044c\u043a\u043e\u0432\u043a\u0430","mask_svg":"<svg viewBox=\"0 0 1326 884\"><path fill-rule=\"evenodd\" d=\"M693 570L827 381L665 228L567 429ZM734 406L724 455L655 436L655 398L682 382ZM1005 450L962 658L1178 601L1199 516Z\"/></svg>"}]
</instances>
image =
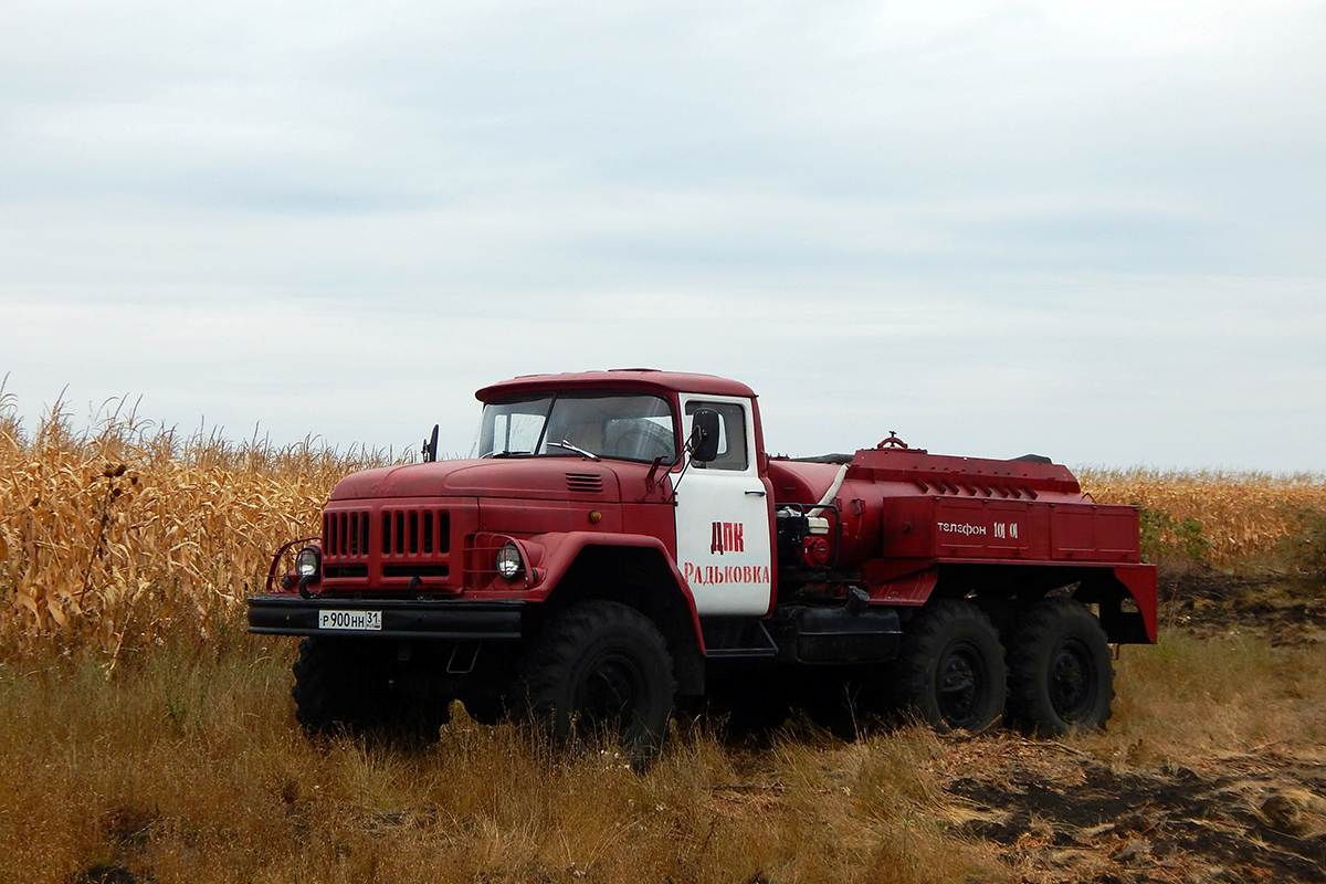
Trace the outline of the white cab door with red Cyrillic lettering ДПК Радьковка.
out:
<instances>
[{"instance_id":1,"label":"white cab door with red Cyrillic lettering \u0414\u041f\u041a \u0420\u0430\u0434\u044c\u043a\u043e\u0432\u043a\u0430","mask_svg":"<svg viewBox=\"0 0 1326 884\"><path fill-rule=\"evenodd\" d=\"M683 439L700 408L719 414L719 456L674 472L678 567L705 615L773 607L770 486L758 472L748 399L682 395Z\"/></svg>"}]
</instances>

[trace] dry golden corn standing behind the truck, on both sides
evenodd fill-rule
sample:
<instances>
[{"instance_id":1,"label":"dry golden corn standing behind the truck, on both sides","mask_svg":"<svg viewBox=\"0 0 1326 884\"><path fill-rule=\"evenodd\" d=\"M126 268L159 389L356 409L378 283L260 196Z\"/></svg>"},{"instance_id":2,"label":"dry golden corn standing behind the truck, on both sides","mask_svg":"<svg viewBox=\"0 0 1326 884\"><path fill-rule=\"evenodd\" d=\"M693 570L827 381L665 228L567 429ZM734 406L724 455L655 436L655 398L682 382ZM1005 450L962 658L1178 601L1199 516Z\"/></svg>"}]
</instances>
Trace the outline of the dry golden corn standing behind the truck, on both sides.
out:
<instances>
[{"instance_id":1,"label":"dry golden corn standing behind the truck, on both sides","mask_svg":"<svg viewBox=\"0 0 1326 884\"><path fill-rule=\"evenodd\" d=\"M80 432L58 406L25 431L0 394L0 639L9 653L90 647L114 660L174 634L235 628L272 550L317 530L341 476L387 461L182 439L118 412ZM1196 518L1213 565L1269 555L1296 510L1326 510L1321 474L1089 469L1082 484L1101 502ZM1177 545L1166 530L1160 547Z\"/></svg>"}]
</instances>

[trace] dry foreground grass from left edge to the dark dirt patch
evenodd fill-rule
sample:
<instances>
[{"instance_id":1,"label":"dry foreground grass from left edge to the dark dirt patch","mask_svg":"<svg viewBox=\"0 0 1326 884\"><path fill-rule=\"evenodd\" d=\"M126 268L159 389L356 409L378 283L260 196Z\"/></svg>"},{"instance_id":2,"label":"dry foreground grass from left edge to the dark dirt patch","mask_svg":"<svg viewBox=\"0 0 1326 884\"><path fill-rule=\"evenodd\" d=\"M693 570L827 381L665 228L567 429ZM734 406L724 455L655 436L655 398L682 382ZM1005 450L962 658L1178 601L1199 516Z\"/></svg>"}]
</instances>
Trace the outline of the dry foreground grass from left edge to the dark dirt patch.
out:
<instances>
[{"instance_id":1,"label":"dry foreground grass from left edge to the dark dirt patch","mask_svg":"<svg viewBox=\"0 0 1326 884\"><path fill-rule=\"evenodd\" d=\"M463 714L427 750L310 745L288 663L167 648L110 680L69 661L0 669L0 880L1004 877L945 831L926 732L743 750L692 728L646 775Z\"/></svg>"}]
</instances>

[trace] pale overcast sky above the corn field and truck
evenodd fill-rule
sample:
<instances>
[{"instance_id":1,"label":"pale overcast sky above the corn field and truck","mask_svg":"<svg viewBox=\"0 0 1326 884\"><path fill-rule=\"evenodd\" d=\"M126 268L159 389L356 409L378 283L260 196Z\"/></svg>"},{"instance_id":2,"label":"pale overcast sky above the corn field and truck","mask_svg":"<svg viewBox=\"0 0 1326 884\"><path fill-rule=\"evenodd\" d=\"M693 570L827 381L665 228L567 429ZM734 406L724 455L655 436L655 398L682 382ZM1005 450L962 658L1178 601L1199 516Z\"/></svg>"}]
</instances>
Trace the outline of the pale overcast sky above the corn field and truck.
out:
<instances>
[{"instance_id":1,"label":"pale overcast sky above the corn field and truck","mask_svg":"<svg viewBox=\"0 0 1326 884\"><path fill-rule=\"evenodd\" d=\"M3 0L3 391L464 455L487 383L647 366L773 453L1326 472L1323 48L1293 0Z\"/></svg>"}]
</instances>

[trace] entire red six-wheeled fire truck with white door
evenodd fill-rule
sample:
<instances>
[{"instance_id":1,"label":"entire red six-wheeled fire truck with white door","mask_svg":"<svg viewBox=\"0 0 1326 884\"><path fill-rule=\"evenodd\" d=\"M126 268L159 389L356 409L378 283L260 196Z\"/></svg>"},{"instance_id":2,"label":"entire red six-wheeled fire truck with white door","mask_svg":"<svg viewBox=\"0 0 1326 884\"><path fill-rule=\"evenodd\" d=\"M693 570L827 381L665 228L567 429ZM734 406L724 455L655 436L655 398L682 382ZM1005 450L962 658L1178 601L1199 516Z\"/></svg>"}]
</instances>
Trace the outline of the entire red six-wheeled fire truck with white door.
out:
<instances>
[{"instance_id":1,"label":"entire red six-wheeled fire truck with white door","mask_svg":"<svg viewBox=\"0 0 1326 884\"><path fill-rule=\"evenodd\" d=\"M343 478L253 632L304 636L310 733L435 736L460 700L655 753L679 705L777 724L1105 725L1110 644L1156 639L1138 510L1048 459L765 453L745 384L651 370L484 387L467 460ZM293 561L293 565L292 565Z\"/></svg>"}]
</instances>

